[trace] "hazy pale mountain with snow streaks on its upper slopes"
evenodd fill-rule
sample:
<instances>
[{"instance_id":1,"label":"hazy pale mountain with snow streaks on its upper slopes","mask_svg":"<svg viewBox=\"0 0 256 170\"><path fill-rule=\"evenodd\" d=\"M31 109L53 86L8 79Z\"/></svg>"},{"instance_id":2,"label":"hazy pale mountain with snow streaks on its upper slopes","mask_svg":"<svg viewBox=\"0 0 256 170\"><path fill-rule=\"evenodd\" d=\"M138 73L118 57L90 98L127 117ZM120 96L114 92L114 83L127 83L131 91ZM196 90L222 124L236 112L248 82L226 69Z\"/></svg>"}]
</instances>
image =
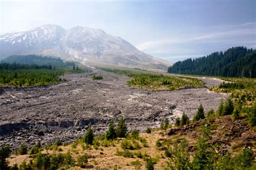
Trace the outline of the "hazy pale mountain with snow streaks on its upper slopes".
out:
<instances>
[{"instance_id":1,"label":"hazy pale mountain with snow streaks on its upper slopes","mask_svg":"<svg viewBox=\"0 0 256 170\"><path fill-rule=\"evenodd\" d=\"M91 66L167 69L171 63L136 49L126 40L100 29L76 26L65 30L44 25L0 35L0 59L11 55L41 54Z\"/></svg>"}]
</instances>

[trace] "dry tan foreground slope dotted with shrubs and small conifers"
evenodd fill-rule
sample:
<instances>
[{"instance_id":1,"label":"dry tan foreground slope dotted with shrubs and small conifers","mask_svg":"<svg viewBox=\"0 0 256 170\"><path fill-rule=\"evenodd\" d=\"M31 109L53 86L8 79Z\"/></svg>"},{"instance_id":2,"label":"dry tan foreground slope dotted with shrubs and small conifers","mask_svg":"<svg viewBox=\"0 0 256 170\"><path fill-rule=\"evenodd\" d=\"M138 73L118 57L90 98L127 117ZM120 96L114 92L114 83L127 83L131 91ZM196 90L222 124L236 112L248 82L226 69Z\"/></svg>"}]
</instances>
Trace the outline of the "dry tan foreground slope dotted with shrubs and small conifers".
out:
<instances>
[{"instance_id":1,"label":"dry tan foreground slope dotted with shrubs and small conifers","mask_svg":"<svg viewBox=\"0 0 256 170\"><path fill-rule=\"evenodd\" d=\"M246 118L232 120L230 115L226 115L212 119L210 123L197 121L147 132L138 134L133 130L126 138L114 140L95 137L93 145L86 144L85 135L70 145L58 141L42 149L35 146L30 154L11 155L8 161L10 166L17 164L20 168L55 166L68 169L147 169L150 161L156 169L177 166L181 169L200 169L201 166L210 169L253 169L256 166L252 151L252 148L255 149L255 128L250 128ZM41 150L41 154L37 154L37 149ZM198 154L202 157L197 158ZM49 158L48 163L46 158ZM66 161L68 158L69 161Z\"/></svg>"}]
</instances>

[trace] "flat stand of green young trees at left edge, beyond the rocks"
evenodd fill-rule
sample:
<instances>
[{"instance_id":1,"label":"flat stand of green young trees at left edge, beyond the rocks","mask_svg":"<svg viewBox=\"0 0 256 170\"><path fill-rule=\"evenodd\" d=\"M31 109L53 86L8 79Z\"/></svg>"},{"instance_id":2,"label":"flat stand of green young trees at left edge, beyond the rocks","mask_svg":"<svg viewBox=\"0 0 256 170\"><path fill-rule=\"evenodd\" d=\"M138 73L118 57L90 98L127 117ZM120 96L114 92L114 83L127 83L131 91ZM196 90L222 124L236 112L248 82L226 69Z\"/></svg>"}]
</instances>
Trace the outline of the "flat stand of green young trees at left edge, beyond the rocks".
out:
<instances>
[{"instance_id":1,"label":"flat stand of green young trees at left edge, beyond the rocks","mask_svg":"<svg viewBox=\"0 0 256 170\"><path fill-rule=\"evenodd\" d=\"M71 67L52 65L0 64L0 86L27 87L54 84L65 79L59 78L67 73L80 73L85 70L72 70Z\"/></svg>"}]
</instances>

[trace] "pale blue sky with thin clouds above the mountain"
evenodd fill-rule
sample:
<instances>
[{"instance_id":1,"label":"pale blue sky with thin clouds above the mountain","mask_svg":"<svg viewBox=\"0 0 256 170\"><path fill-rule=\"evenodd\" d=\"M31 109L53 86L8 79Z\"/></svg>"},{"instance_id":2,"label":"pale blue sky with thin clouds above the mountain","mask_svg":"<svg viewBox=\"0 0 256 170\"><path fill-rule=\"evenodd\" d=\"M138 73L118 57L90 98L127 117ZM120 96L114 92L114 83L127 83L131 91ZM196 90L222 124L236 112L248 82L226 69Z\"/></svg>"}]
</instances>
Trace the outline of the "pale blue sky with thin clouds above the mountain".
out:
<instances>
[{"instance_id":1,"label":"pale blue sky with thin clouds above the mountain","mask_svg":"<svg viewBox=\"0 0 256 170\"><path fill-rule=\"evenodd\" d=\"M0 33L45 24L99 28L177 62L233 46L256 49L255 0L0 0Z\"/></svg>"}]
</instances>

